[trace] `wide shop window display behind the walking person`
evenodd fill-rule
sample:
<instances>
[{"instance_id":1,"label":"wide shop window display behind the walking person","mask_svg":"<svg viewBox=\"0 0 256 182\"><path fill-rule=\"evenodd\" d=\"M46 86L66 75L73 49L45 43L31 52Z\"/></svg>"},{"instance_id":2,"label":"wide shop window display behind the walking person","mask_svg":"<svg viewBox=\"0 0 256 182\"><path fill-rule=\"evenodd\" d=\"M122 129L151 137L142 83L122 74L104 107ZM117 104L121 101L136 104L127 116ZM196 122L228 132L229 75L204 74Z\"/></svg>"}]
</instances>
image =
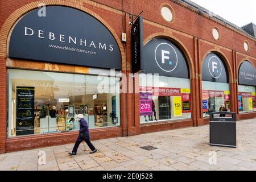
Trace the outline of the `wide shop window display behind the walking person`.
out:
<instances>
[{"instance_id":1,"label":"wide shop window display behind the walking person","mask_svg":"<svg viewBox=\"0 0 256 182\"><path fill-rule=\"evenodd\" d=\"M9 69L9 137L119 126L119 94L98 93L97 76ZM119 78L108 77L109 88ZM97 97L95 97L97 96Z\"/></svg>"}]
</instances>

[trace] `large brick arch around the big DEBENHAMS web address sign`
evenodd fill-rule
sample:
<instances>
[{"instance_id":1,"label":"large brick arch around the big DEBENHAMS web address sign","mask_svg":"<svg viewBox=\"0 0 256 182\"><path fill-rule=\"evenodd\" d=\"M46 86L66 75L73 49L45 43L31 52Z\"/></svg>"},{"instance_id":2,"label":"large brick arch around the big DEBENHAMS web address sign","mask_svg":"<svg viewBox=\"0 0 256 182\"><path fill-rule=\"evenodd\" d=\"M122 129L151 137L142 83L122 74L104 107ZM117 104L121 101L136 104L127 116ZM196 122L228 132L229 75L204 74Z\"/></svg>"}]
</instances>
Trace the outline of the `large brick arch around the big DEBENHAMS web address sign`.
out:
<instances>
[{"instance_id":1,"label":"large brick arch around the big DEBENHAMS web address sign","mask_svg":"<svg viewBox=\"0 0 256 182\"><path fill-rule=\"evenodd\" d=\"M9 39L11 32L13 31L14 25L18 20L28 13L31 10L34 10L38 8L38 5L40 3L44 3L46 6L49 5L60 5L60 6L67 6L67 7L73 7L75 9L84 11L85 13L88 13L92 15L94 18L96 18L98 21L100 21L113 35L115 41L118 44L120 53L121 53L121 59L122 59L122 67L125 67L125 50L122 46L121 40L119 39L119 36L115 33L114 29L104 20L101 18L101 16L94 13L92 10L87 9L86 7L82 6L82 2L80 1L72 1L72 0L45 0L45 1L36 1L28 3L27 5L24 5L20 7L18 10L15 10L9 18L6 19L5 23L3 24L1 31L0 31L0 47L1 47L1 53L0 57L7 57L8 48L9 48Z\"/></svg>"}]
</instances>

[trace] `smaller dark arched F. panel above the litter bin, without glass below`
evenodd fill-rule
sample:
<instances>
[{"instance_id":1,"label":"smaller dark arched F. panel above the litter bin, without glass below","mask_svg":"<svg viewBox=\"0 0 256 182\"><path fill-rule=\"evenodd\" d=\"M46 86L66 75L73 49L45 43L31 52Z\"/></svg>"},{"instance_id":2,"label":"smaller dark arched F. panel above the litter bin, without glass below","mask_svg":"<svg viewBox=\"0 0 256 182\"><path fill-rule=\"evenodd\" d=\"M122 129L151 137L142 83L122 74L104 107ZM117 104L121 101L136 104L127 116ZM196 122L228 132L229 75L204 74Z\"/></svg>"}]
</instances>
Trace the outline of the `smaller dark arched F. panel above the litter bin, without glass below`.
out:
<instances>
[{"instance_id":1,"label":"smaller dark arched F. panel above the litter bin, without glass below","mask_svg":"<svg viewBox=\"0 0 256 182\"><path fill-rule=\"evenodd\" d=\"M203 81L228 83L228 70L224 61L216 53L209 53L205 57L202 68Z\"/></svg>"}]
</instances>

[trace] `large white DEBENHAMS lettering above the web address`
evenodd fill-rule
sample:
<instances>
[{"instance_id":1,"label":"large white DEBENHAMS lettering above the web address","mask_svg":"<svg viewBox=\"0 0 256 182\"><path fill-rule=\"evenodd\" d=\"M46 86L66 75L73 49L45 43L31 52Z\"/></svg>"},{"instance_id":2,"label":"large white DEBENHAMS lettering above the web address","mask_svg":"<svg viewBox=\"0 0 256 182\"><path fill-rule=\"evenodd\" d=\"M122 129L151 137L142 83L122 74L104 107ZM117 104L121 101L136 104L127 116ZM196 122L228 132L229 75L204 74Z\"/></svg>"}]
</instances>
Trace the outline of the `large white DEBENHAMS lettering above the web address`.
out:
<instances>
[{"instance_id":1,"label":"large white DEBENHAMS lettering above the web address","mask_svg":"<svg viewBox=\"0 0 256 182\"><path fill-rule=\"evenodd\" d=\"M53 32L44 32L43 30L33 30L29 27L24 27L24 35L36 36L39 39L55 40L60 43L75 44L84 47L90 47L95 49L104 49L107 51L114 51L113 44L106 44L101 42L94 42L92 40L76 38L72 36L66 36L64 34L54 34Z\"/></svg>"}]
</instances>

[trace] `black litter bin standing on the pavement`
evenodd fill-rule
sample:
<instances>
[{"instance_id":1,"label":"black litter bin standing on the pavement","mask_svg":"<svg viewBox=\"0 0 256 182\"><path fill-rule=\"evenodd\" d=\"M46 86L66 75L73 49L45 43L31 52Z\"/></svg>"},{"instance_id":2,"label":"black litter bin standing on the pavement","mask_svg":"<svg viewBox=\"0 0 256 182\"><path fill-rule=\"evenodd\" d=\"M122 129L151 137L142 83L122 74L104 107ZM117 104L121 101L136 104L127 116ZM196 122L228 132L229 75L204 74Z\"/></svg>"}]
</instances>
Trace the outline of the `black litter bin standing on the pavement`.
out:
<instances>
[{"instance_id":1,"label":"black litter bin standing on the pavement","mask_svg":"<svg viewBox=\"0 0 256 182\"><path fill-rule=\"evenodd\" d=\"M237 147L236 113L210 113L210 146Z\"/></svg>"}]
</instances>

